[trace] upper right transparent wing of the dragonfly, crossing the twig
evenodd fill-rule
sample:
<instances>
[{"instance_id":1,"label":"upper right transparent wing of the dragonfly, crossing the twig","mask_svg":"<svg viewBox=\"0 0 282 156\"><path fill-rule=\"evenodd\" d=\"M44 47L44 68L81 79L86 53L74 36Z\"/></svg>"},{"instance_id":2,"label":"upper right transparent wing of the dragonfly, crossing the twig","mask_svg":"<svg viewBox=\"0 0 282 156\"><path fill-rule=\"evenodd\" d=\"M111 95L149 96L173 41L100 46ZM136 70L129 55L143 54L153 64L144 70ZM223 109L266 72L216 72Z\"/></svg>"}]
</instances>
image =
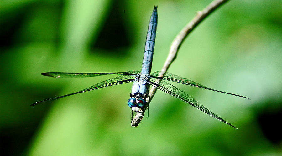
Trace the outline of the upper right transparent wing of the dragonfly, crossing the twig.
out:
<instances>
[{"instance_id":1,"label":"upper right transparent wing of the dragonfly, crossing the twig","mask_svg":"<svg viewBox=\"0 0 282 156\"><path fill-rule=\"evenodd\" d=\"M216 92L220 92L220 93L226 93L226 94L230 94L230 95L235 95L235 96L239 96L242 98L247 98L241 95L237 95L237 94L232 94L232 93L227 93L227 92L222 92L219 90L215 90L212 88L208 88L206 86L203 86L199 83L196 83L194 81L188 80L187 78L182 78L178 75L172 74L172 73L166 73L164 76L159 76L159 73L161 73L162 71L156 71L153 74L151 74L152 78L158 78L158 79L162 79L162 80L167 80L167 81L172 81L172 82L177 82L177 83L182 83L182 84L186 84L186 85L190 85L190 86L194 86L194 87L199 87L199 88L204 88L204 89L208 89L208 90L212 90L212 91L216 91Z\"/></svg>"}]
</instances>

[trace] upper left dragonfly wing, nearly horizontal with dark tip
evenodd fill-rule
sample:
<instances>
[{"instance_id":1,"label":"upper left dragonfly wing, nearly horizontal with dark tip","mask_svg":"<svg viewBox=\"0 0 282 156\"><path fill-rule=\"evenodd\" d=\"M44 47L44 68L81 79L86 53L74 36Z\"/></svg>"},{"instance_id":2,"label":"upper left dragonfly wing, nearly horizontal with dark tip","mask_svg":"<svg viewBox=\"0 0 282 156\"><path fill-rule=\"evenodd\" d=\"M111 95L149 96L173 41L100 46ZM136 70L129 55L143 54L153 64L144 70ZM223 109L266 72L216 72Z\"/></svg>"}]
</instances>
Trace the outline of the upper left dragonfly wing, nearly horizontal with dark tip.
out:
<instances>
[{"instance_id":1,"label":"upper left dragonfly wing, nearly horizontal with dark tip","mask_svg":"<svg viewBox=\"0 0 282 156\"><path fill-rule=\"evenodd\" d=\"M86 77L94 77L94 76L100 76L100 75L110 75L110 74L116 74L116 75L136 75L140 73L141 71L135 70L135 71L128 71L128 72L116 72L116 73L65 73L65 72L46 72L41 73L44 76L50 76L54 78L86 78Z\"/></svg>"}]
</instances>

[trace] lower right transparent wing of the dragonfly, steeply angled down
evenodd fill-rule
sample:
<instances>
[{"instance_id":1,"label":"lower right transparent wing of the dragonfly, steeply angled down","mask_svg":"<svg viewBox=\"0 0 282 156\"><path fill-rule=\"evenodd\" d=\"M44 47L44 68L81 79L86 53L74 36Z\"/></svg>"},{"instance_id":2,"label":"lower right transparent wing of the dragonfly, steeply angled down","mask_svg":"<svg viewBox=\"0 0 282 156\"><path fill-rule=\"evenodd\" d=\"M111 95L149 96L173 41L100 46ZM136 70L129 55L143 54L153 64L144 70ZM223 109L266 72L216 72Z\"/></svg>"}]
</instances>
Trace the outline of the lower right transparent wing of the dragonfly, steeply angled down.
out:
<instances>
[{"instance_id":1,"label":"lower right transparent wing of the dragonfly, steeply angled down","mask_svg":"<svg viewBox=\"0 0 282 156\"><path fill-rule=\"evenodd\" d=\"M201 105L201 103L197 102L195 99L191 98L191 96L189 96L188 94L184 93L182 90L174 87L173 85L161 81L159 84L157 84L154 79L150 79L148 81L148 83L166 93L169 93L170 95L179 98L180 100L189 103L190 105L196 107L197 109L200 109L201 111L209 114L210 116L217 118L218 120L227 123L225 120L223 120L222 118L220 118L219 116L217 116L216 114L212 113L210 110L208 110L205 106ZM233 125L231 125L230 123L227 123L228 125L234 127ZM236 128L236 127L234 127Z\"/></svg>"}]
</instances>

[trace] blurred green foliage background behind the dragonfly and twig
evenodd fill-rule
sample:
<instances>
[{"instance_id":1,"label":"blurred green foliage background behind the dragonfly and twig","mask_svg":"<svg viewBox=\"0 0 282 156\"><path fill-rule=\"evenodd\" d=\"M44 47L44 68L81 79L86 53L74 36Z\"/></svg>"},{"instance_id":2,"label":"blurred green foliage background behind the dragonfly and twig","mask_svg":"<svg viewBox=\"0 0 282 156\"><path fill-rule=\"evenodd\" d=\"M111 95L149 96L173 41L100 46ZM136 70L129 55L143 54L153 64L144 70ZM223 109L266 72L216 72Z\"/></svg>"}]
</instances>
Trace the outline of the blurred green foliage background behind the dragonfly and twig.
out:
<instances>
[{"instance_id":1,"label":"blurred green foliage background behind the dragonfly and twig","mask_svg":"<svg viewBox=\"0 0 282 156\"><path fill-rule=\"evenodd\" d=\"M112 76L43 72L140 70L154 5L152 71L176 34L211 0L2 0L0 151L3 155L281 155L282 1L232 0L182 44L169 72L249 99L181 84L238 129L157 91L149 118L130 127L131 83L77 94Z\"/></svg>"}]
</instances>

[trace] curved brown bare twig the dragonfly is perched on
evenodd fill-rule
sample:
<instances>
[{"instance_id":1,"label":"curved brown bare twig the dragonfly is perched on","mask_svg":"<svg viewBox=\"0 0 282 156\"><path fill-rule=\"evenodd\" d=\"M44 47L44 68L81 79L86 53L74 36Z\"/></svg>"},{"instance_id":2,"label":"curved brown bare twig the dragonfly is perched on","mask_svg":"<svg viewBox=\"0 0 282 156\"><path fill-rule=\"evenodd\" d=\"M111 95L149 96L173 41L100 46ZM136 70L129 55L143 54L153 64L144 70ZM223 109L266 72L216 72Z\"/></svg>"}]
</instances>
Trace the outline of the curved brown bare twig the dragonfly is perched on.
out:
<instances>
[{"instance_id":1,"label":"curved brown bare twig the dragonfly is perched on","mask_svg":"<svg viewBox=\"0 0 282 156\"><path fill-rule=\"evenodd\" d=\"M185 38L187 37L187 35L194 29L196 28L196 26L201 23L208 15L210 15L215 9L219 8L222 4L224 4L225 2L227 2L228 0L214 0L212 1L212 3L210 3L209 5L206 6L206 8L204 8L201 11L198 11L196 16L177 34L177 36L175 37L175 39L172 41L171 45L170 45L170 51L169 54L165 60L165 64L163 66L163 68L161 69L161 73L159 74L159 76L163 76L168 68L170 67L171 63L175 60L176 56L177 56L177 52L181 46L181 44L183 43L183 41L185 40ZM157 79L156 83L159 83L161 80ZM155 93L157 91L157 88L152 87L150 92L149 92L149 99L147 99L147 103L149 104L152 100L152 98L154 97ZM144 108L144 112L145 112L146 108ZM143 116L144 116L144 112L140 111L138 113L136 113L135 117L133 118L132 122L131 122L131 126L133 127L137 127L138 124L140 123L140 121L142 120Z\"/></svg>"}]
</instances>

